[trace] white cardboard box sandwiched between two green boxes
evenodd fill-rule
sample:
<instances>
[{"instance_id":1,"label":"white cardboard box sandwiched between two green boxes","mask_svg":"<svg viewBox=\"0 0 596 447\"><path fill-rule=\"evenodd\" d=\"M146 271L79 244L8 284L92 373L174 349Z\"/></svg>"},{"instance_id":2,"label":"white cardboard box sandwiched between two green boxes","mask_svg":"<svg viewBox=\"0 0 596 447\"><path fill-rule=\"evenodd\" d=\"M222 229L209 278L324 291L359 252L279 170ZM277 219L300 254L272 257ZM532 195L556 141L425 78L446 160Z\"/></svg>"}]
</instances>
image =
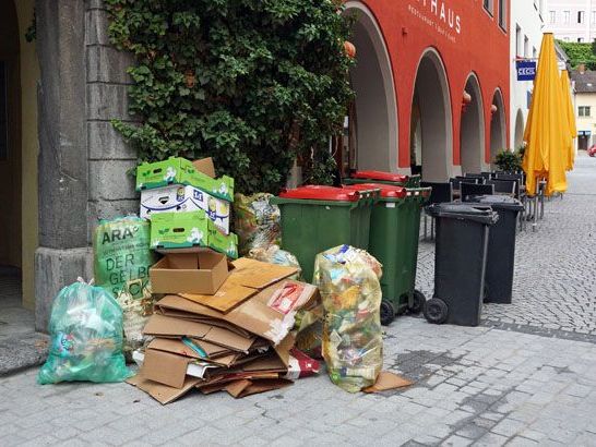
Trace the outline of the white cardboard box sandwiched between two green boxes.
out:
<instances>
[{"instance_id":1,"label":"white cardboard box sandwiched between two green boxes","mask_svg":"<svg viewBox=\"0 0 596 447\"><path fill-rule=\"evenodd\" d=\"M172 184L141 191L141 217L151 219L159 213L202 209L224 234L229 234L230 203L194 186Z\"/></svg>"}]
</instances>

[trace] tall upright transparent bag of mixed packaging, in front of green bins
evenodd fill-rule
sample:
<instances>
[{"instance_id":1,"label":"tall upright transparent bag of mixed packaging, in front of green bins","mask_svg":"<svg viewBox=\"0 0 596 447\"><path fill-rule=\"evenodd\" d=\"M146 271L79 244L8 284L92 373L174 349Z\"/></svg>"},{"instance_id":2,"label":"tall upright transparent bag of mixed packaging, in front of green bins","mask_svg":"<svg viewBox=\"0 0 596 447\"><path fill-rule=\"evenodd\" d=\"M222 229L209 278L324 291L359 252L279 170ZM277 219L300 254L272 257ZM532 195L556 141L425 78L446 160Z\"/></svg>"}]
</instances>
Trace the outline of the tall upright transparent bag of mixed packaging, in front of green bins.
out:
<instances>
[{"instance_id":1,"label":"tall upright transparent bag of mixed packaging, in front of green bins","mask_svg":"<svg viewBox=\"0 0 596 447\"><path fill-rule=\"evenodd\" d=\"M373 385L383 366L381 264L348 245L317 255L314 285L325 311L323 358L331 380L357 392Z\"/></svg>"}]
</instances>

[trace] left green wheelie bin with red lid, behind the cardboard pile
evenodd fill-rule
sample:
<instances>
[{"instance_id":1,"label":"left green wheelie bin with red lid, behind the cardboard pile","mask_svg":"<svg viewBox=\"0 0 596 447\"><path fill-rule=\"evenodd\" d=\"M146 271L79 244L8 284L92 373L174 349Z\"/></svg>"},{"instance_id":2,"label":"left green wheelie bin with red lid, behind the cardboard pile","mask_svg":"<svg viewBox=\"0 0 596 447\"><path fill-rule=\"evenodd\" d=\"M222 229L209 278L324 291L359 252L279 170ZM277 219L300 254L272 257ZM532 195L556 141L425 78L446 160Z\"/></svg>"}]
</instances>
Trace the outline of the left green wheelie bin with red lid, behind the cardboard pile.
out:
<instances>
[{"instance_id":1,"label":"left green wheelie bin with red lid, behind the cardboard pile","mask_svg":"<svg viewBox=\"0 0 596 447\"><path fill-rule=\"evenodd\" d=\"M282 213L282 247L293 253L312 280L317 254L342 244L368 250L370 215L379 190L301 186L271 203Z\"/></svg>"}]
</instances>

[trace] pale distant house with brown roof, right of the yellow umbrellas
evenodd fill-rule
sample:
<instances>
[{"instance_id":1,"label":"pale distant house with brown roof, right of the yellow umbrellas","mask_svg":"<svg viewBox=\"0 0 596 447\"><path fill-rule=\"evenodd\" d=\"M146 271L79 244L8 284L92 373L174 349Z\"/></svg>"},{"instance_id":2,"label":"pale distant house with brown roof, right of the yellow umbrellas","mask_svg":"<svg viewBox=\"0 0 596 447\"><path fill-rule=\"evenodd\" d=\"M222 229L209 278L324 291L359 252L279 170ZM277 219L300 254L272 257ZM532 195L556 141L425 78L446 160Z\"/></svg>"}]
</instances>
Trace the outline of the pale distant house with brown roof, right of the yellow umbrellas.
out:
<instances>
[{"instance_id":1,"label":"pale distant house with brown roof, right of the yellow umbrellas","mask_svg":"<svg viewBox=\"0 0 596 447\"><path fill-rule=\"evenodd\" d=\"M596 71L580 65L571 72L571 80L575 85L577 149L585 150L596 143Z\"/></svg>"}]
</instances>

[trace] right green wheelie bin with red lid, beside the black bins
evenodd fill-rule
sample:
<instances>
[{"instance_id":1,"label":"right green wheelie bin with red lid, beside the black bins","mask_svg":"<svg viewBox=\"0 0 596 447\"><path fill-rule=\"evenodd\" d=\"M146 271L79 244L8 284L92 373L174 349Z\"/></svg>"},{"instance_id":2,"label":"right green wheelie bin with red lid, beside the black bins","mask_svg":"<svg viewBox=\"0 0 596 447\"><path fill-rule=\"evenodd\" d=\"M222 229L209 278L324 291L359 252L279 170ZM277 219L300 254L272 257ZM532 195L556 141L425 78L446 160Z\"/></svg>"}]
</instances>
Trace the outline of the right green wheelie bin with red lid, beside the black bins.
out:
<instances>
[{"instance_id":1,"label":"right green wheelie bin with red lid, beside the black bins","mask_svg":"<svg viewBox=\"0 0 596 447\"><path fill-rule=\"evenodd\" d=\"M383 265L381 323L389 325L395 315L419 313L426 302L415 288L418 264L420 212L430 188L402 188L381 183L347 185L346 189L381 190L372 208L369 253Z\"/></svg>"}]
</instances>

